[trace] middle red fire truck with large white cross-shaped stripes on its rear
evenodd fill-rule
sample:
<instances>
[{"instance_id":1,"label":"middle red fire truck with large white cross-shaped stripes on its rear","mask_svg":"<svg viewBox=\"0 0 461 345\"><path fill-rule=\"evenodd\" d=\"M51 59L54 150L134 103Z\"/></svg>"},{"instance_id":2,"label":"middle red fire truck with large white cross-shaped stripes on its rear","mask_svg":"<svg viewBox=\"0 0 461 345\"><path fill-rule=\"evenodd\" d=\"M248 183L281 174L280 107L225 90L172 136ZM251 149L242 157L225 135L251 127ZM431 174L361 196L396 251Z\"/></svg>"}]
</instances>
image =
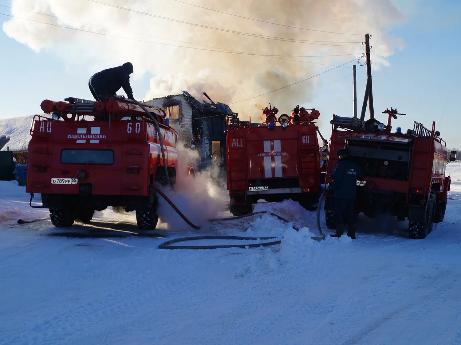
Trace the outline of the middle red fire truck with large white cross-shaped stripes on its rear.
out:
<instances>
[{"instance_id":1,"label":"middle red fire truck with large white cross-shaped stripes on its rear","mask_svg":"<svg viewBox=\"0 0 461 345\"><path fill-rule=\"evenodd\" d=\"M318 110L295 108L291 116L263 109L265 121L255 124L229 118L226 170L231 213L252 212L258 199L297 200L304 207L318 201L320 157Z\"/></svg>"}]
</instances>

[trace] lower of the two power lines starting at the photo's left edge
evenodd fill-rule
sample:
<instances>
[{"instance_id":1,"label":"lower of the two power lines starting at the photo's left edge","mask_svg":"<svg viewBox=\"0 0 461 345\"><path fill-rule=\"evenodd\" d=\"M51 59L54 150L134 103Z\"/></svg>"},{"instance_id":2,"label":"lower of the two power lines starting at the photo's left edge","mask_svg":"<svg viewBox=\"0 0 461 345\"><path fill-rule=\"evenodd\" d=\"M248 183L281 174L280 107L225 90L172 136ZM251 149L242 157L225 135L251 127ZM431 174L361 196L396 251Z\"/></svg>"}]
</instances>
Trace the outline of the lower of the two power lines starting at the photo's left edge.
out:
<instances>
[{"instance_id":1,"label":"lower of the two power lines starting at the photo's left edge","mask_svg":"<svg viewBox=\"0 0 461 345\"><path fill-rule=\"evenodd\" d=\"M223 51L223 50L214 50L214 49L205 49L205 48L197 48L197 47L189 47L189 46L178 46L174 44L169 44L169 43L161 43L161 42L153 42L153 41L148 41L148 40L140 40L140 39L135 39L135 38L130 38L130 37L122 37L122 36L117 36L117 35L110 35L102 32L96 32L96 31L91 31L91 30L85 30L85 29L77 29L77 28L72 28L70 26L65 26L65 25L59 25L59 24L54 24L54 23L47 23L47 22L41 22L40 20L36 19L30 19L30 18L22 18L22 17L17 17L17 16L12 16L6 13L0 13L0 15L6 16L6 17L12 17L12 18L17 18L17 19L22 19L22 20L27 20L35 23L42 23L46 25L51 25L54 27L59 27L59 28L64 28L64 29L71 29L75 31L80 31L80 32L86 32L90 34L95 34L95 35L102 35L102 36L107 36L107 37L114 37L114 38L121 38L124 40L132 40L132 41L137 41L137 42L143 42L143 43L150 43L150 44L159 44L163 46L173 46L177 48L185 48L185 49L194 49L194 50L201 50L201 51L206 51L206 52L220 52L220 53L226 53L226 54L237 54L237 55L248 55L248 56L262 56L262 57L273 57L273 58L279 58L279 57L285 57L284 55L265 55L265 54L254 54L254 53L249 53L249 52L237 52L237 51ZM193 44L193 43L190 43ZM218 48L220 49L220 48ZM353 54L344 54L344 55L356 55L356 53ZM323 55L324 57L331 56L331 55ZM338 55L339 56L339 55ZM316 55L316 56L309 56L309 55L286 55L286 57L322 57L322 55ZM295 61L295 62L303 62L303 63L311 63L307 61L299 61L299 60L291 60L291 59L284 59L282 60L288 60L288 61ZM313 63L317 64L317 63ZM337 66L341 67L341 66Z\"/></svg>"}]
</instances>

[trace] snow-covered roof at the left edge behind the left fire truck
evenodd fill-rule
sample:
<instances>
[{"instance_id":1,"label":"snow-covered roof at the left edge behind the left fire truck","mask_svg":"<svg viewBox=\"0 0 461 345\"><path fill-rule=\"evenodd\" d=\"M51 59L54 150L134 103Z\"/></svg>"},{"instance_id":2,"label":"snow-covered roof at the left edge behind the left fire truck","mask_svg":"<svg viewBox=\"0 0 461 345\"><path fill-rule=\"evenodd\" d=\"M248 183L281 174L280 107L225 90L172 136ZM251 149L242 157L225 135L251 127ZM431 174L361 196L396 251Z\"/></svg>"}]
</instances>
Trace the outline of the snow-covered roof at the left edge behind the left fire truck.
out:
<instances>
[{"instance_id":1,"label":"snow-covered roof at the left edge behind the left fire truck","mask_svg":"<svg viewBox=\"0 0 461 345\"><path fill-rule=\"evenodd\" d=\"M28 115L0 120L0 136L6 135L10 137L10 141L3 147L2 151L6 151L8 147L10 151L27 149L30 141L30 125L33 118L34 115Z\"/></svg>"}]
</instances>

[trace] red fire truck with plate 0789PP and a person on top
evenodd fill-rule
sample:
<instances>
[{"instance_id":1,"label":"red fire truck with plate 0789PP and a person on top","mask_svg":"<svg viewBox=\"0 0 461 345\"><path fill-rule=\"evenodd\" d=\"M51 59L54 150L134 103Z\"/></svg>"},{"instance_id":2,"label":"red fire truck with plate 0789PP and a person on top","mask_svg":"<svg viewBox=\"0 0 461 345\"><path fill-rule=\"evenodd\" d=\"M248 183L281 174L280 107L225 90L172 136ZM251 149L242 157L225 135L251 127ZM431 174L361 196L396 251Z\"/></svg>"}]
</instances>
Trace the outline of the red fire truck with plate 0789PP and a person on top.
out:
<instances>
[{"instance_id":1,"label":"red fire truck with plate 0789PP and a person on top","mask_svg":"<svg viewBox=\"0 0 461 345\"><path fill-rule=\"evenodd\" d=\"M44 100L41 109L51 117L35 115L30 129L26 191L31 201L41 193L55 226L89 222L95 210L114 206L136 211L138 226L154 229L154 186L169 178L174 182L178 167L177 133L164 111L120 96Z\"/></svg>"}]
</instances>

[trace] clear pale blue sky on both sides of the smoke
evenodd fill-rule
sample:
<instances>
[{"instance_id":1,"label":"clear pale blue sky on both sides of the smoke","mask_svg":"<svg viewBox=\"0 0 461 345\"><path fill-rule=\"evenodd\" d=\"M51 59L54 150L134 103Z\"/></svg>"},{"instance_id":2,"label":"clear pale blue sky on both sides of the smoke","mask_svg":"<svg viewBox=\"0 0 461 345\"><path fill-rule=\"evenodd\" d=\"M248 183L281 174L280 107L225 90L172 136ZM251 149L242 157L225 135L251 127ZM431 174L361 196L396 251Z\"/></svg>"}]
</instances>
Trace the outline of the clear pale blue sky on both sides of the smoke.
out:
<instances>
[{"instance_id":1,"label":"clear pale blue sky on both sides of the smoke","mask_svg":"<svg viewBox=\"0 0 461 345\"><path fill-rule=\"evenodd\" d=\"M393 3L403 14L403 20L388 30L396 37L405 37L461 18L461 1L411 0ZM10 1L6 4L9 5ZM7 8L0 8L0 12L10 13ZM9 19L0 16L0 23ZM436 121L436 127L447 141L447 146L461 148L461 37L411 47L458 35L461 35L461 20L408 36L404 39L407 48L397 50L388 58L390 67L372 72L374 108L378 119L385 121L386 115L381 111L392 106L407 114L394 120L394 128L406 130L413 127L413 121L430 127L432 121ZM94 71L85 63L70 65L62 55L56 56L50 50L34 52L9 38L3 31L0 32L0 45L3 81L0 84L0 119L39 113L39 104L46 98L62 100L74 96L91 99L88 79ZM375 50L378 48L373 47ZM348 69L335 69L320 75L316 77L316 86L335 81L348 73ZM151 74L145 73L140 78L132 79L135 96L146 93L151 77ZM359 112L365 80L365 67L357 66ZM302 95L297 97L302 98ZM300 104L301 101L294 100L293 103ZM320 110L320 129L325 137L329 137L331 115L351 115L352 77L316 88L310 104Z\"/></svg>"}]
</instances>

